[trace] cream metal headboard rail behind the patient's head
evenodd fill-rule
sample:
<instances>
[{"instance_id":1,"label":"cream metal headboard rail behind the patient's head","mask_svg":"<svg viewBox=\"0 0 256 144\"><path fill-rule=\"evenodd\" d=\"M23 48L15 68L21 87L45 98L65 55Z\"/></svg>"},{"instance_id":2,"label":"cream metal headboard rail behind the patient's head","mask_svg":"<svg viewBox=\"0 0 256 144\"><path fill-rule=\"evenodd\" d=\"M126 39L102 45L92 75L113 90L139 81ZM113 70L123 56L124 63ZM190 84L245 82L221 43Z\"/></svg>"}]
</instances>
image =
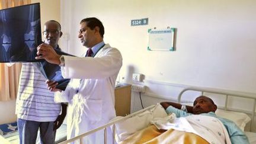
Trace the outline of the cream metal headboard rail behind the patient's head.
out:
<instances>
[{"instance_id":1,"label":"cream metal headboard rail behind the patient's head","mask_svg":"<svg viewBox=\"0 0 256 144\"><path fill-rule=\"evenodd\" d=\"M203 88L203 87L188 87L188 88L184 88L180 94L178 95L178 103L181 102L181 96L184 94L184 92L186 91L199 91L201 92L201 95L204 95L204 92L209 92L211 94L220 94L220 95L225 95L225 107L224 108L220 108L223 110L228 110L228 111L236 111L232 108L228 108L228 98L229 97L239 97L239 98L249 98L254 100L254 103L252 105L252 110L250 111L252 115L252 122L251 122L251 127L250 127L250 131L252 132L252 128L253 128L253 122L254 122L254 117L255 117L255 105L256 105L256 94L254 93L248 93L248 92L239 92L239 91L229 91L229 90L225 90L225 89L215 89L215 88ZM239 112L243 112L243 113L248 113L248 111L243 111L240 110Z\"/></svg>"}]
</instances>

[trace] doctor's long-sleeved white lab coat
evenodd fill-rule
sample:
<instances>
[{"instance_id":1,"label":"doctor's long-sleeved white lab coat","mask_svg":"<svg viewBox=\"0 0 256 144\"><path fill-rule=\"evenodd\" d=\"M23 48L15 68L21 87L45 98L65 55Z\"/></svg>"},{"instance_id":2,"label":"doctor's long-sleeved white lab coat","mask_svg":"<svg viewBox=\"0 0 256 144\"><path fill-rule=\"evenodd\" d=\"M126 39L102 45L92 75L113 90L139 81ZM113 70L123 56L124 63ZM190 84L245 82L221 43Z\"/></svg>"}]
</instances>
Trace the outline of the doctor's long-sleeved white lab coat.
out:
<instances>
[{"instance_id":1,"label":"doctor's long-sleeved white lab coat","mask_svg":"<svg viewBox=\"0 0 256 144\"><path fill-rule=\"evenodd\" d=\"M64 57L62 75L71 81L65 91L56 92L55 100L69 103L67 138L70 139L116 117L114 85L122 57L119 50L109 44L105 44L94 57ZM111 143L110 129L107 129L107 134L107 143ZM104 143L103 130L85 137L83 141Z\"/></svg>"}]
</instances>

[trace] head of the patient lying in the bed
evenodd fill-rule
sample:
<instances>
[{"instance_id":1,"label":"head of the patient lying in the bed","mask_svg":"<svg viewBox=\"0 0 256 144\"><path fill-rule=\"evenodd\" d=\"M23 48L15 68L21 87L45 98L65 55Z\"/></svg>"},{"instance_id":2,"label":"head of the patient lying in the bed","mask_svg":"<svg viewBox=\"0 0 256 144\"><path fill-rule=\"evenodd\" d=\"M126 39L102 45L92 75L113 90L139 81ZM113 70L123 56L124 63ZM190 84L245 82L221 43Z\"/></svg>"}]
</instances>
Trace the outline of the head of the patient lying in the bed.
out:
<instances>
[{"instance_id":1,"label":"head of the patient lying in the bed","mask_svg":"<svg viewBox=\"0 0 256 144\"><path fill-rule=\"evenodd\" d=\"M213 100L203 95L197 97L193 105L194 114L215 112L217 110L217 105Z\"/></svg>"}]
</instances>

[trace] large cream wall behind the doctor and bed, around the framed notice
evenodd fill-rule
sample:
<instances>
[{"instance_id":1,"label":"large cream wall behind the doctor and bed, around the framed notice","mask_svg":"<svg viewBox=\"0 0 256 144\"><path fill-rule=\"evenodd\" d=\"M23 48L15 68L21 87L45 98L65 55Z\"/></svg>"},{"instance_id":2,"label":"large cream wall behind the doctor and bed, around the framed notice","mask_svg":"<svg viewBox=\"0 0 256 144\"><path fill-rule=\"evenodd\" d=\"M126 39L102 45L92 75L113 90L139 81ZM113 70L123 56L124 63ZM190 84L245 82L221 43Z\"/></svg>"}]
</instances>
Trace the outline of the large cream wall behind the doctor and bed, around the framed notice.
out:
<instances>
[{"instance_id":1,"label":"large cream wall behind the doctor and bed, around the framed notice","mask_svg":"<svg viewBox=\"0 0 256 144\"><path fill-rule=\"evenodd\" d=\"M60 20L68 52L86 51L78 39L82 18L98 17L105 26L105 43L123 55L122 82L143 73L151 104L158 96L177 97L188 85L256 92L256 1L253 0L77 0L60 1ZM132 27L130 20L149 18L148 25ZM177 28L174 52L148 51L149 28ZM146 92L147 93L147 92ZM140 108L132 93L133 108ZM161 97L162 98L162 97ZM152 100L153 99L153 100ZM156 100L155 100L156 99ZM243 104L241 104L242 106Z\"/></svg>"}]
</instances>

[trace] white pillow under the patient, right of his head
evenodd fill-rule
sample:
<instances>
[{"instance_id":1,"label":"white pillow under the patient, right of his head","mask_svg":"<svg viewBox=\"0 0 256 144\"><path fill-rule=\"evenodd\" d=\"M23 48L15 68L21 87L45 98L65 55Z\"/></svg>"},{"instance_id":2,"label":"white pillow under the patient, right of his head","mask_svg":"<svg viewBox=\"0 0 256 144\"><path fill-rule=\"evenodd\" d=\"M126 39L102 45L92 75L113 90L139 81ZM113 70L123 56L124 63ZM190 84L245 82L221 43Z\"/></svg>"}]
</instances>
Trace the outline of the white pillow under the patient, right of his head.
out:
<instances>
[{"instance_id":1,"label":"white pillow under the patient, right of his head","mask_svg":"<svg viewBox=\"0 0 256 144\"><path fill-rule=\"evenodd\" d=\"M251 118L245 113L239 113L235 111L226 111L217 109L216 115L228 120L232 120L242 131L244 131L245 125L251 120Z\"/></svg>"}]
</instances>

